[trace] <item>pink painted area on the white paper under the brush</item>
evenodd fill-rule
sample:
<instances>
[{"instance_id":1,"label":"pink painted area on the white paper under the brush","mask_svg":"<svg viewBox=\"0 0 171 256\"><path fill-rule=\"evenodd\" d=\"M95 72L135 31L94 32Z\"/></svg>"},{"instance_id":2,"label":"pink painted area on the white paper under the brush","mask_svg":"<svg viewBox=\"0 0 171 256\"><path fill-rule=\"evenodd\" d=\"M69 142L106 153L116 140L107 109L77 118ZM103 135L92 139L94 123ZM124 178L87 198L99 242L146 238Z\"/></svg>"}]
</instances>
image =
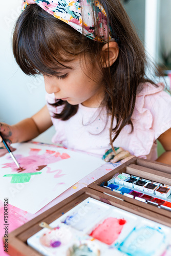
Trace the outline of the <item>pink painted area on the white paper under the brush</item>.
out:
<instances>
[{"instance_id":1,"label":"pink painted area on the white paper under the brush","mask_svg":"<svg viewBox=\"0 0 171 256\"><path fill-rule=\"evenodd\" d=\"M3 168L11 168L12 172L15 173L36 173L39 170L47 169L47 173L55 173L54 178L59 178L63 176L62 170L51 170L48 166L50 163L56 163L63 159L70 158L67 153L59 153L56 151L46 150L44 154L41 154L41 149L39 148L30 148L29 156L24 157L23 155L15 155L20 169L16 167L16 164L12 161L11 158L8 158L10 162L5 163Z\"/></svg>"}]
</instances>

